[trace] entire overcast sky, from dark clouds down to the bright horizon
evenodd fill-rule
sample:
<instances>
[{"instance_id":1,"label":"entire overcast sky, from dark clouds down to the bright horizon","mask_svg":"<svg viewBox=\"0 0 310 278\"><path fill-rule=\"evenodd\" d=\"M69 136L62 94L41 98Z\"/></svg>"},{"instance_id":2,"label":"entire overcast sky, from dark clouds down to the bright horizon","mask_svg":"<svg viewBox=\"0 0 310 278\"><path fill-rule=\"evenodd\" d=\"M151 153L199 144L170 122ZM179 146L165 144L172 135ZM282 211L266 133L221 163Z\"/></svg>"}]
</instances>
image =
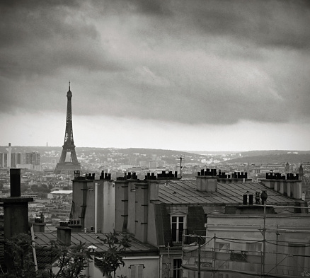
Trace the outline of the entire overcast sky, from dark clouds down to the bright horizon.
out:
<instances>
[{"instance_id":1,"label":"entire overcast sky, from dark clouds down to the bright horizon","mask_svg":"<svg viewBox=\"0 0 310 278\"><path fill-rule=\"evenodd\" d=\"M0 145L310 150L310 1L0 1Z\"/></svg>"}]
</instances>

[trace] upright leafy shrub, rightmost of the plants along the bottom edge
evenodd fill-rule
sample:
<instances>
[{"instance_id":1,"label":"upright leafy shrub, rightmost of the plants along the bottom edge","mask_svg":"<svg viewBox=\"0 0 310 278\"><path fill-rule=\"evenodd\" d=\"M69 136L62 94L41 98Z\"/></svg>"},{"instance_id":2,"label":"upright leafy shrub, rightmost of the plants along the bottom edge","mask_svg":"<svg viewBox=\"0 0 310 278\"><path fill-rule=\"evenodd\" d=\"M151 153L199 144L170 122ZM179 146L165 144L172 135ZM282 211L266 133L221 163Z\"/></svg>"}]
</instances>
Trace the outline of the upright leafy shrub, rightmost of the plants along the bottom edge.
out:
<instances>
[{"instance_id":1,"label":"upright leafy shrub, rightmost of the plants along the bottom edge","mask_svg":"<svg viewBox=\"0 0 310 278\"><path fill-rule=\"evenodd\" d=\"M128 236L117 237L115 231L107 233L105 238L100 238L103 243L108 244L108 250L103 252L103 276L108 275L109 278L115 278L117 268L125 266L122 260L122 252L130 247L130 238Z\"/></svg>"}]
</instances>

